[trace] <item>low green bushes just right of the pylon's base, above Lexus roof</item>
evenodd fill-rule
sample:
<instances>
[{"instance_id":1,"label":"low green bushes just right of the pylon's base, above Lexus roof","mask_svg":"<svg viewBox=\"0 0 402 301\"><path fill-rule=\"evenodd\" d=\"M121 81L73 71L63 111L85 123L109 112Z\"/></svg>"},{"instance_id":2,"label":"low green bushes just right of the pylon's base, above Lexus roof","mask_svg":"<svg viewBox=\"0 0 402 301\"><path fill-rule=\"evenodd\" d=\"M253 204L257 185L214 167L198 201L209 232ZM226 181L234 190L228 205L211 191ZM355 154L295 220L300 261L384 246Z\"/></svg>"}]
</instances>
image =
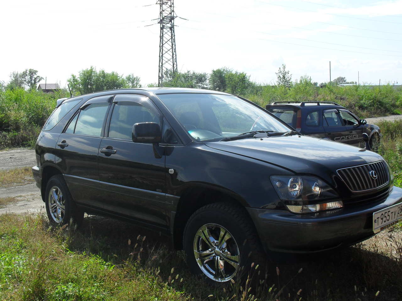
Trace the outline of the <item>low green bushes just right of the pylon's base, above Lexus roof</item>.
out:
<instances>
[{"instance_id":1,"label":"low green bushes just right of the pylon's base, above Lexus roof","mask_svg":"<svg viewBox=\"0 0 402 301\"><path fill-rule=\"evenodd\" d=\"M198 73L195 71L176 72L171 74L172 78L163 83L164 87L181 87L181 88L208 88L207 73Z\"/></svg>"}]
</instances>

